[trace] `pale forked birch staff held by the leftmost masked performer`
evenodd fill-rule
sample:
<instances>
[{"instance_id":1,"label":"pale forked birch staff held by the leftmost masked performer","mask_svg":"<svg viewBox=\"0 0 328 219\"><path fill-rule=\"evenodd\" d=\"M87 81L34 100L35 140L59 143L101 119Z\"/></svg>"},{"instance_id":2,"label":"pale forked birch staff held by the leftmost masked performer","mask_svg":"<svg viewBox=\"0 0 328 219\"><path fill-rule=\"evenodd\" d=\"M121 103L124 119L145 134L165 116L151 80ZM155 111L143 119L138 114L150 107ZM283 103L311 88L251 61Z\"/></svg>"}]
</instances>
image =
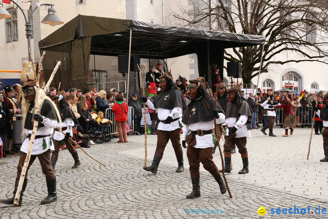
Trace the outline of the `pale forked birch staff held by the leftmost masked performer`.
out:
<instances>
[{"instance_id":1,"label":"pale forked birch staff held by the leftmost masked performer","mask_svg":"<svg viewBox=\"0 0 328 219\"><path fill-rule=\"evenodd\" d=\"M40 75L41 75L41 66L42 66L42 61L43 61L43 58L44 58L45 55L46 55L46 52L44 51L43 54L42 54L42 56L41 56L41 58L40 58L40 62L39 62L40 64L39 64L39 68L38 68L38 75L37 75L37 78L36 78L37 80L36 80L35 100L34 100L35 101L35 107L34 107L34 113L35 114L40 113L40 110L39 110L40 102L44 98L45 91L50 86L50 83L51 83L53 77L55 76L55 74L56 74L56 72L57 72L57 70L59 68L59 65L61 63L60 61L57 62L57 65L53 69L52 74L51 74L51 76L49 78L49 81L46 84L46 87L44 88L44 90L42 90L42 89L39 90L39 81L40 81ZM40 94L39 94L39 91L40 91ZM33 144L34 144L35 133L36 133L36 130L37 130L37 127L38 127L38 122L39 121L36 121L36 120L33 121L33 130L32 130L32 134L31 134L29 149L27 151L26 159L25 159L25 162L24 162L24 166L22 168L22 173L21 173L21 176L20 176L20 179L19 179L19 183L18 183L18 187L17 187L17 192L16 192L16 195L15 195L15 200L14 200L14 205L15 206L18 206L20 193L22 192L22 186L23 186L25 175L26 175L26 170L27 170L27 167L28 167L28 165L30 163L31 152L32 152Z\"/></svg>"}]
</instances>

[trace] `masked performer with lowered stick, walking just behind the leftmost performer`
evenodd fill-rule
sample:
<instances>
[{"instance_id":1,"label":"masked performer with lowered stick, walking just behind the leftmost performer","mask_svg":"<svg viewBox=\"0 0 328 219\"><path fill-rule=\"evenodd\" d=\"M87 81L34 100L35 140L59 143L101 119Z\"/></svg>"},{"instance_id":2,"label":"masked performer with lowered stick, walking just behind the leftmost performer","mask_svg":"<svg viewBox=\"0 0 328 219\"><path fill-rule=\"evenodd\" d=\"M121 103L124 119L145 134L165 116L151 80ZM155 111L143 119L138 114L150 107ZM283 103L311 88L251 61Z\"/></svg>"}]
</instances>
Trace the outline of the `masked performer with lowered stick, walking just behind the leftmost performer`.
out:
<instances>
[{"instance_id":1,"label":"masked performer with lowered stick, walking just behind the leftmost performer","mask_svg":"<svg viewBox=\"0 0 328 219\"><path fill-rule=\"evenodd\" d=\"M81 165L81 162L79 159L79 155L69 138L73 138L72 127L74 127L74 124L78 124L78 121L74 116L74 113L72 112L69 103L66 100L65 93L61 91L58 94L59 95L56 96L53 101L59 109L62 123L57 124L55 133L53 134L53 145L55 147L55 150L52 152L51 155L51 165L52 168L55 169L58 160L60 145L64 141L68 151L72 154L72 157L74 159L74 165L72 166L72 168L77 168L79 165ZM59 129L60 126L62 127L61 131ZM64 132L65 135L62 132Z\"/></svg>"}]
</instances>

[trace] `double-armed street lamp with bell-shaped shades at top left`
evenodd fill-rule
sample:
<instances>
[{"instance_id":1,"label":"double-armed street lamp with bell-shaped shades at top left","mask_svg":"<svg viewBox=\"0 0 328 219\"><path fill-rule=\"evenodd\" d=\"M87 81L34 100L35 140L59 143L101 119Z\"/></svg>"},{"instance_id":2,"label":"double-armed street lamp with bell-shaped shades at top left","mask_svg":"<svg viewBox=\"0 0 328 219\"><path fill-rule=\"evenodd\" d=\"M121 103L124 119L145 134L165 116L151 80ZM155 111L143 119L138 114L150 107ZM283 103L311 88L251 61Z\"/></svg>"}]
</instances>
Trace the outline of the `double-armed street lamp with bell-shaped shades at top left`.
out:
<instances>
[{"instance_id":1,"label":"double-armed street lamp with bell-shaped shades at top left","mask_svg":"<svg viewBox=\"0 0 328 219\"><path fill-rule=\"evenodd\" d=\"M31 19L32 19L32 15L34 13L34 11L38 8L38 6L35 6L35 8L32 10L31 14L30 14L30 18L28 20L28 18L26 17L26 14L24 13L24 10L13 0L10 0L12 3L14 3L24 14L24 18L25 18L25 26L26 26L26 38L27 38L27 44L31 49L31 36L32 36L32 24L31 24ZM55 26L57 24L63 24L64 22L60 19L60 17L56 14L56 10L54 8L52 8L52 6L54 6L53 4L48 4L48 3L43 3L40 4L40 6L42 5L49 5L51 6L51 8L48 10L48 14L44 17L44 19L41 21L41 23L44 24L49 24L50 26ZM0 20L3 18L9 18L11 17L10 13L8 13L8 11L6 9L3 8L3 3L0 0ZM29 61L32 61L31 58L29 57Z\"/></svg>"}]
</instances>

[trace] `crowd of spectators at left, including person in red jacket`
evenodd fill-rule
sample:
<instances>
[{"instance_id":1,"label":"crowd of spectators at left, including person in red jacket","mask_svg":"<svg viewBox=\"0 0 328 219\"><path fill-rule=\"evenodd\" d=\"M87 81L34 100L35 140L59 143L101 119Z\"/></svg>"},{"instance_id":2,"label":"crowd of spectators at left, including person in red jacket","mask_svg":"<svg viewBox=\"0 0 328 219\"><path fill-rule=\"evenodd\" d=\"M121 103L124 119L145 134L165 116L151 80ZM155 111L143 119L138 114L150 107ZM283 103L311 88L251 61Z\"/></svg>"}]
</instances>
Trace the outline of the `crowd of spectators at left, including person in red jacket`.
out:
<instances>
[{"instance_id":1,"label":"crowd of spectators at left, including person in red jacket","mask_svg":"<svg viewBox=\"0 0 328 219\"><path fill-rule=\"evenodd\" d=\"M86 136L89 136L90 128L94 126L104 132L105 129L101 125L113 124L112 120L115 120L119 130L119 136L117 136L119 142L128 142L127 133L126 131L124 132L126 130L128 106L122 92L119 92L115 88L110 89L109 92L105 90L98 92L96 87L84 91L76 88L65 88L63 91L57 91L55 87L51 87L47 96L54 101L55 97L60 94L66 95L69 107L78 121L74 126L75 139L85 139ZM14 155L20 151L20 144L13 145L12 143L13 132L15 131L13 130L12 123L20 118L21 100L23 97L24 94L20 84L14 84L13 86L7 85L0 92L0 157ZM108 108L113 108L115 118L106 118L106 109ZM120 108L124 109L122 110L123 112L119 110ZM99 116L99 114L103 115ZM141 120L141 116L138 116L138 119ZM125 124L123 124L124 122ZM114 135L113 137L116 136ZM82 140L77 142L81 143ZM88 143L91 145L95 144L90 139ZM82 145L84 147L90 147L85 143ZM63 148L65 147L63 146Z\"/></svg>"}]
</instances>

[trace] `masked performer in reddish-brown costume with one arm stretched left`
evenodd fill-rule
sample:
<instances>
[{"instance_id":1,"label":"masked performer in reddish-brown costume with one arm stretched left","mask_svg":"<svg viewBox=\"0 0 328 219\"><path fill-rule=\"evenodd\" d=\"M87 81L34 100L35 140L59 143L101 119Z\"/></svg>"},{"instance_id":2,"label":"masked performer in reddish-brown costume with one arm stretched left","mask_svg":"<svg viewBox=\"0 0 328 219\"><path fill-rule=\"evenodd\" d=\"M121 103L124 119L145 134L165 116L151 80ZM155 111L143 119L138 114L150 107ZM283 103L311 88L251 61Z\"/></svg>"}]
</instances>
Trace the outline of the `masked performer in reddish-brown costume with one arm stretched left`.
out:
<instances>
[{"instance_id":1,"label":"masked performer in reddish-brown costume with one arm stretched left","mask_svg":"<svg viewBox=\"0 0 328 219\"><path fill-rule=\"evenodd\" d=\"M293 107L294 104L290 101L286 95L282 95L279 99L281 105L272 106L270 105L269 108L280 108L284 110L284 118L283 118L283 124L282 127L285 129L285 134L283 137L288 137L288 129L290 129L290 134L293 135L294 129L294 113L293 113Z\"/></svg>"}]
</instances>

